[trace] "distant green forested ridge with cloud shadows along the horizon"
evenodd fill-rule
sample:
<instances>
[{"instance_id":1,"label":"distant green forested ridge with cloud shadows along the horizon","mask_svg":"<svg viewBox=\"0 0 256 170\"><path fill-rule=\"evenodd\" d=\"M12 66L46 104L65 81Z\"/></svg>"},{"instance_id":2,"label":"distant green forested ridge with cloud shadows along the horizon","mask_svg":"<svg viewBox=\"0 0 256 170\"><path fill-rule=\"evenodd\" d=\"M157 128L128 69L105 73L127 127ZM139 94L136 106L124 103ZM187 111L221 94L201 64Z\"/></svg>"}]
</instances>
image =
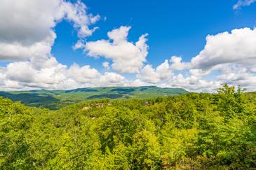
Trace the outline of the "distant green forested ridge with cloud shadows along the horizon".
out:
<instances>
[{"instance_id":1,"label":"distant green forested ridge with cloud shadows along the horizon","mask_svg":"<svg viewBox=\"0 0 256 170\"><path fill-rule=\"evenodd\" d=\"M21 101L27 106L61 108L67 104L94 99L146 99L150 97L186 94L180 88L147 87L95 87L75 90L32 90L21 92L0 92L0 96Z\"/></svg>"}]
</instances>

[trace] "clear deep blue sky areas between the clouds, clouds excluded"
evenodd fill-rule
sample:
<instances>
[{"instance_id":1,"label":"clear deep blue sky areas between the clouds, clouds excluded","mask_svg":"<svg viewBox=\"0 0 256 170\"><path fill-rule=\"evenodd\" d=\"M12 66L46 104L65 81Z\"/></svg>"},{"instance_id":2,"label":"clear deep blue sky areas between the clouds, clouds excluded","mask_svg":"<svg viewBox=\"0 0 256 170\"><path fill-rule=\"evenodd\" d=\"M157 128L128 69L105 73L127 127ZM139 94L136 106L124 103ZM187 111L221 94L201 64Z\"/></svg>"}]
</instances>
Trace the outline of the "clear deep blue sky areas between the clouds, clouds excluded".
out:
<instances>
[{"instance_id":1,"label":"clear deep blue sky areas between the clouds, clouds excluded","mask_svg":"<svg viewBox=\"0 0 256 170\"><path fill-rule=\"evenodd\" d=\"M83 1L90 13L99 14L100 27L88 41L107 38L107 31L121 25L131 26L129 41L141 34L149 34L147 61L158 66L164 59L178 55L189 62L203 49L208 34L218 34L232 29L256 26L256 3L234 10L235 1ZM63 64L90 64L102 69L102 59L86 57L81 50L72 50L77 36L72 24L61 22L55 28L58 38L53 54Z\"/></svg>"}]
</instances>

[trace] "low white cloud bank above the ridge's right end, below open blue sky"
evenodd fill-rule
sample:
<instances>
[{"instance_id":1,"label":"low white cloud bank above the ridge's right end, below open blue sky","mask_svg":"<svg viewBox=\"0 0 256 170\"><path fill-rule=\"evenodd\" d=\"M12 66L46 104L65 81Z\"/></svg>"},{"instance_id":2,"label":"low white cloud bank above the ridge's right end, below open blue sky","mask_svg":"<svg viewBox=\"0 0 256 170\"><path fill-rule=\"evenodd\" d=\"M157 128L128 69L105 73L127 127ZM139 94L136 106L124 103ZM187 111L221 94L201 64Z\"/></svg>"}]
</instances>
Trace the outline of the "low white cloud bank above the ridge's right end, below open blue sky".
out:
<instances>
[{"instance_id":1,"label":"low white cloud bank above the ridge's right end, below open blue sky","mask_svg":"<svg viewBox=\"0 0 256 170\"><path fill-rule=\"evenodd\" d=\"M174 61L177 59L176 61ZM171 57L170 63L165 62L152 68L146 65L137 74L137 85L157 85L159 87L181 87L192 92L213 92L220 86L220 81L203 80L202 75L196 69L190 69L190 73L184 76L184 73L174 73L181 68L188 69L187 64L181 64L180 57ZM136 85L136 83L134 83ZM133 85L133 83L131 83Z\"/></svg>"}]
</instances>

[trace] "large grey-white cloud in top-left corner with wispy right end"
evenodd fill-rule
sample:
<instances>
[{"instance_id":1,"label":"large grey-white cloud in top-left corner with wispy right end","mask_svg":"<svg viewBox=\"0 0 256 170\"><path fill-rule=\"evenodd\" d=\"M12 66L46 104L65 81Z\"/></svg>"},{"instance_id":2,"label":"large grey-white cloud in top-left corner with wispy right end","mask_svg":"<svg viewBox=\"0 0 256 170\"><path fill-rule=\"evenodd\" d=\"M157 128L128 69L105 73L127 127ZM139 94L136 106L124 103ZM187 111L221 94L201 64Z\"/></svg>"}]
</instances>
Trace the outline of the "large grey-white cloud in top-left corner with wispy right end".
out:
<instances>
[{"instance_id":1,"label":"large grey-white cloud in top-left corner with wispy right end","mask_svg":"<svg viewBox=\"0 0 256 170\"><path fill-rule=\"evenodd\" d=\"M50 55L56 38L53 31L61 20L72 22L81 38L97 29L90 29L99 15L86 13L81 1L3 0L0 6L0 60L25 60ZM11 12L10 12L11 11Z\"/></svg>"}]
</instances>

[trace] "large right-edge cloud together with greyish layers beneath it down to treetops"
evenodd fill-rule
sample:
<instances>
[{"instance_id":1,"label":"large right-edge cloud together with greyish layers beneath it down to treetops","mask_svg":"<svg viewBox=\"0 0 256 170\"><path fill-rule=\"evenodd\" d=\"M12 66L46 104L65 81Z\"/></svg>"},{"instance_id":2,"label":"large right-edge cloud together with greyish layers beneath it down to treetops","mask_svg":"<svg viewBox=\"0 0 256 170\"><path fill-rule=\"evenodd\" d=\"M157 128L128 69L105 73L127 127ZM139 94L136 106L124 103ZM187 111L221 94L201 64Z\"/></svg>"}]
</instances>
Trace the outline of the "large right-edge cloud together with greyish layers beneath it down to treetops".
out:
<instances>
[{"instance_id":1,"label":"large right-edge cloud together with greyish layers beneath it down to treetops","mask_svg":"<svg viewBox=\"0 0 256 170\"><path fill-rule=\"evenodd\" d=\"M256 90L256 29L234 29L207 36L204 49L191 59L192 76L203 77L218 71L221 83Z\"/></svg>"}]
</instances>

